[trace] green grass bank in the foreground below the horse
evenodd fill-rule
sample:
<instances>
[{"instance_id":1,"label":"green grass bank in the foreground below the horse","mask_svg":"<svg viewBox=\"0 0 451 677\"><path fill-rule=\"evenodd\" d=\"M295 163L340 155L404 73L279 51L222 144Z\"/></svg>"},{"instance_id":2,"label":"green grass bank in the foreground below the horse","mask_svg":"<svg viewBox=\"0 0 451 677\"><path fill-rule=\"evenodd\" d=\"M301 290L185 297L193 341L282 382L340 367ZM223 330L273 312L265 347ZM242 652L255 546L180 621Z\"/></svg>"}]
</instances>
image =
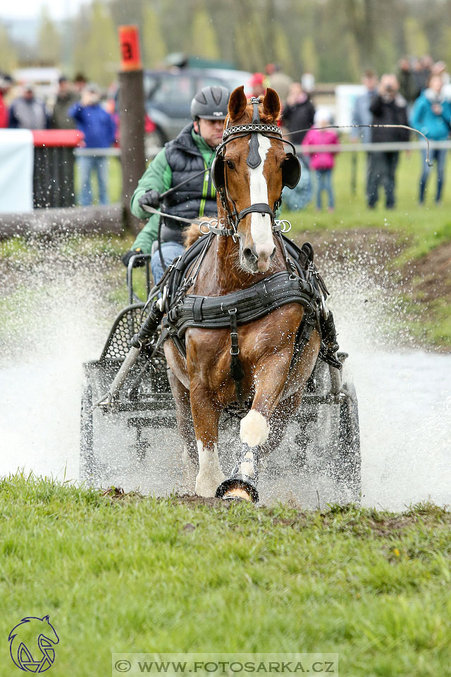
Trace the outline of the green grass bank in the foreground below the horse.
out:
<instances>
[{"instance_id":1,"label":"green grass bank in the foreground below the horse","mask_svg":"<svg viewBox=\"0 0 451 677\"><path fill-rule=\"evenodd\" d=\"M451 659L451 514L113 500L0 482L0 675L8 633L49 614L54 677L111 652L337 652L347 676L435 676Z\"/></svg>"}]
</instances>

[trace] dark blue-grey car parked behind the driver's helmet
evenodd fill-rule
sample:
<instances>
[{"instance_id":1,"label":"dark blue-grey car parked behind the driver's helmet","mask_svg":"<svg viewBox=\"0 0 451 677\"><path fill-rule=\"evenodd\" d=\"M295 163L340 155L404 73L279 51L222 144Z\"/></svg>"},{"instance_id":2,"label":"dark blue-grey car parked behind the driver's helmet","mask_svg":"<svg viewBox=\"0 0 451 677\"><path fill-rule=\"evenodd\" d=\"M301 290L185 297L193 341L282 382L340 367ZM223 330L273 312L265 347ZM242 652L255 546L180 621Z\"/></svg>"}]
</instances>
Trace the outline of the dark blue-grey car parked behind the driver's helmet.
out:
<instances>
[{"instance_id":1,"label":"dark blue-grey car parked behind the driver's helmet","mask_svg":"<svg viewBox=\"0 0 451 677\"><path fill-rule=\"evenodd\" d=\"M190 122L192 97L202 87L222 85L230 92L240 85L249 89L252 73L226 68L180 68L177 71L144 71L144 105L154 122L147 145L162 146Z\"/></svg>"}]
</instances>

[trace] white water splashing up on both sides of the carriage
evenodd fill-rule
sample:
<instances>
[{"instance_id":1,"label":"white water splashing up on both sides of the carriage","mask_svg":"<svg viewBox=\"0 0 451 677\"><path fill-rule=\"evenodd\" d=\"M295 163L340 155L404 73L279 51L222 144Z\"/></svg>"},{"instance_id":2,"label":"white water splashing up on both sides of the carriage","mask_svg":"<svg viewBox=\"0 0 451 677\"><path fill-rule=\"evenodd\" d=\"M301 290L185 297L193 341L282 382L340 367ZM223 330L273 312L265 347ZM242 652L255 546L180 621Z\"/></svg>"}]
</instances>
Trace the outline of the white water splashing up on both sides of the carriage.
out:
<instances>
[{"instance_id":1,"label":"white water splashing up on both sides of the carriage","mask_svg":"<svg viewBox=\"0 0 451 677\"><path fill-rule=\"evenodd\" d=\"M383 271L370 280L367 264L326 266L359 398L363 503L451 504L451 356L399 347L402 307ZM78 478L82 362L98 358L117 310L108 293L114 270L108 259L74 262L47 245L42 260L24 262L27 291L16 293L0 334L0 475L25 468Z\"/></svg>"}]
</instances>

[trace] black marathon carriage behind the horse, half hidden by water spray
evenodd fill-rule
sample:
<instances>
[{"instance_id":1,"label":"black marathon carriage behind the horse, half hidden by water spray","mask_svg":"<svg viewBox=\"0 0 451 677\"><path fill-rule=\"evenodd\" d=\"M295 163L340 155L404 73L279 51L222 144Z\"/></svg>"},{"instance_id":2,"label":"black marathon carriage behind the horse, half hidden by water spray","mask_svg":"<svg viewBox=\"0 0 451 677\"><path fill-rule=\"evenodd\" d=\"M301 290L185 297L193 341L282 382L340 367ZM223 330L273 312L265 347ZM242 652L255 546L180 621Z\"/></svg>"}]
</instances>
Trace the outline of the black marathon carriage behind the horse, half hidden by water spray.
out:
<instances>
[{"instance_id":1,"label":"black marathon carriage behind the horse, half hidden by water spray","mask_svg":"<svg viewBox=\"0 0 451 677\"><path fill-rule=\"evenodd\" d=\"M146 260L149 288L149 256ZM113 322L99 359L83 365L85 386L80 415L80 479L94 486L107 484L166 496L186 491L181 447L176 432L175 402L162 351L140 355L113 403L93 404L109 389L128 355L130 341L146 316L144 301L133 288L133 268L127 274L128 305ZM144 312L143 312L144 311ZM326 362L318 360L307 383L302 406L294 415L277 452L261 472L261 501L293 499L304 506L358 502L360 441L354 384ZM224 412L219 456L230 471L231 448L237 448L240 413Z\"/></svg>"}]
</instances>

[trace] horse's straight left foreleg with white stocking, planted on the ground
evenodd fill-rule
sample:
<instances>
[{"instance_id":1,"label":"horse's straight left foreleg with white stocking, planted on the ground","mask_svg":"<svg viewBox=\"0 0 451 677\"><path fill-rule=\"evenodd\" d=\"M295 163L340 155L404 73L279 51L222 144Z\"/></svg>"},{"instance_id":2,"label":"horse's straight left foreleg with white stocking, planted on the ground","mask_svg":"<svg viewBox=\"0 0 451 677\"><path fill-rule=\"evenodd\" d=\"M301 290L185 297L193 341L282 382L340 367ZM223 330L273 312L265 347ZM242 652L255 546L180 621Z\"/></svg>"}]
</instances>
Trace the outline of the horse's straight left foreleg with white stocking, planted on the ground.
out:
<instances>
[{"instance_id":1,"label":"horse's straight left foreleg with white stocking, planted on the ground","mask_svg":"<svg viewBox=\"0 0 451 677\"><path fill-rule=\"evenodd\" d=\"M196 494L214 496L226 476L219 465L218 424L219 408L214 407L212 396L202 387L191 387L191 411L199 455L199 474L196 477Z\"/></svg>"}]
</instances>

